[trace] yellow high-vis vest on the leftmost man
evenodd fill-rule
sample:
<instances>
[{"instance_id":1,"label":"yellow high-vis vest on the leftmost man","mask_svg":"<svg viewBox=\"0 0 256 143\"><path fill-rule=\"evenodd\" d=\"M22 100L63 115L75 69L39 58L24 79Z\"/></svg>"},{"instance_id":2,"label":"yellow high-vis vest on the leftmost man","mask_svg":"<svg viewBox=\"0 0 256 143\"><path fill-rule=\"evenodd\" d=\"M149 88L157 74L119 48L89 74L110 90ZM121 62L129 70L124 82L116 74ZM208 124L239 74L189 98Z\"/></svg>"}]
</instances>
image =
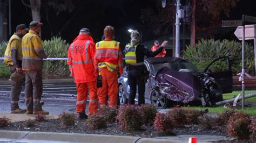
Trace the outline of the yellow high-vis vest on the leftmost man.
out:
<instances>
[{"instance_id":1,"label":"yellow high-vis vest on the leftmost man","mask_svg":"<svg viewBox=\"0 0 256 143\"><path fill-rule=\"evenodd\" d=\"M5 49L5 52L4 52L4 62L8 65L14 65L14 62L12 62L12 58L11 58L11 42L12 40L14 39L17 39L19 44L18 44L18 47L17 48L17 54L18 54L18 57L17 59L18 60L22 60L22 49L21 49L21 41L22 41L22 38L20 38L18 35L16 34L13 34L8 42L8 45Z\"/></svg>"}]
</instances>

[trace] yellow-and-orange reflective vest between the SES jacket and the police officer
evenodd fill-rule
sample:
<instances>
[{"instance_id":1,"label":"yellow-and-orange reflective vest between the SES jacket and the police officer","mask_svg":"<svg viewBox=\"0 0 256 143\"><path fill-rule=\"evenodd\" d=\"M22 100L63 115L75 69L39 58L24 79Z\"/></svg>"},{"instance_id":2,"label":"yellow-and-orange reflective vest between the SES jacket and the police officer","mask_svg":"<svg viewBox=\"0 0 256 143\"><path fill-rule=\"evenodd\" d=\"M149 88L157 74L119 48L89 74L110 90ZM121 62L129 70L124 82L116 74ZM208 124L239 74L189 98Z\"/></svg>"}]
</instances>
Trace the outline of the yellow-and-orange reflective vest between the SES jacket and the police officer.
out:
<instances>
[{"instance_id":1,"label":"yellow-and-orange reflective vest between the SES jacket and the police officer","mask_svg":"<svg viewBox=\"0 0 256 143\"><path fill-rule=\"evenodd\" d=\"M100 61L99 68L107 67L109 71L114 71L118 66L119 42L99 41L96 43L95 58Z\"/></svg>"}]
</instances>

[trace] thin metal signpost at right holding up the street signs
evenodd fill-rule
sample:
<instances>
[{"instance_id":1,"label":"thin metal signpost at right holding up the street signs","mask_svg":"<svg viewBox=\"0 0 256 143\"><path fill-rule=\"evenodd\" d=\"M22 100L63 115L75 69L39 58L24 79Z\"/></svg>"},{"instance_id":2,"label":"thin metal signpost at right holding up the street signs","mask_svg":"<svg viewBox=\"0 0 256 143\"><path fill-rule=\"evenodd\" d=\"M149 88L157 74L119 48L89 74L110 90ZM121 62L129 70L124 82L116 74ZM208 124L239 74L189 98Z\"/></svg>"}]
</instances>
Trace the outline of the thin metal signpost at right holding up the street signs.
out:
<instances>
[{"instance_id":1,"label":"thin metal signpost at right holding up the street signs","mask_svg":"<svg viewBox=\"0 0 256 143\"><path fill-rule=\"evenodd\" d=\"M242 15L242 109L245 107L245 15Z\"/></svg>"}]
</instances>

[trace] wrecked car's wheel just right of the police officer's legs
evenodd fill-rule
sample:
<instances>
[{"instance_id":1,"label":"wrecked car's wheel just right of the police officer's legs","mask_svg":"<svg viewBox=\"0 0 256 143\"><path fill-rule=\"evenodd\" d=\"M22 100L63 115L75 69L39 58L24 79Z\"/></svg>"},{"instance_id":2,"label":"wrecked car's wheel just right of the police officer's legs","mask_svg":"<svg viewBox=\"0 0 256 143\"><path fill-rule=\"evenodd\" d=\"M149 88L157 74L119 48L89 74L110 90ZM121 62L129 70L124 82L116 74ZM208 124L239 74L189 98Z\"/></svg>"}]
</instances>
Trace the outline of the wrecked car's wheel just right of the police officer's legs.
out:
<instances>
[{"instance_id":1,"label":"wrecked car's wheel just right of the police officer's legs","mask_svg":"<svg viewBox=\"0 0 256 143\"><path fill-rule=\"evenodd\" d=\"M158 91L152 90L150 95L151 104L154 104L158 109L167 108L169 105L169 99L161 95Z\"/></svg>"}]
</instances>

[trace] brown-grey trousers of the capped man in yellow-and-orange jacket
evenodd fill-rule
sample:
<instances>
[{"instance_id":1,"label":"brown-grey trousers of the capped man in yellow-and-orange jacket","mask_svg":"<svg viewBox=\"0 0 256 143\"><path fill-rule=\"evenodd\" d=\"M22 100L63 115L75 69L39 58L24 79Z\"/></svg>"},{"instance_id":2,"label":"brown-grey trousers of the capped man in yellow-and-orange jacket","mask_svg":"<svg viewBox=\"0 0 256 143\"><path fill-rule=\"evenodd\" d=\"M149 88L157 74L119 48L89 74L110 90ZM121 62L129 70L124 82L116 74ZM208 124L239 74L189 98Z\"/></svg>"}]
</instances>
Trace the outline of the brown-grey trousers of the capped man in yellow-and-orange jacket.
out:
<instances>
[{"instance_id":1,"label":"brown-grey trousers of the capped man in yellow-and-orange jacket","mask_svg":"<svg viewBox=\"0 0 256 143\"><path fill-rule=\"evenodd\" d=\"M42 105L40 104L43 94L42 70L28 70L25 71L25 74L26 110L42 111Z\"/></svg>"}]
</instances>

